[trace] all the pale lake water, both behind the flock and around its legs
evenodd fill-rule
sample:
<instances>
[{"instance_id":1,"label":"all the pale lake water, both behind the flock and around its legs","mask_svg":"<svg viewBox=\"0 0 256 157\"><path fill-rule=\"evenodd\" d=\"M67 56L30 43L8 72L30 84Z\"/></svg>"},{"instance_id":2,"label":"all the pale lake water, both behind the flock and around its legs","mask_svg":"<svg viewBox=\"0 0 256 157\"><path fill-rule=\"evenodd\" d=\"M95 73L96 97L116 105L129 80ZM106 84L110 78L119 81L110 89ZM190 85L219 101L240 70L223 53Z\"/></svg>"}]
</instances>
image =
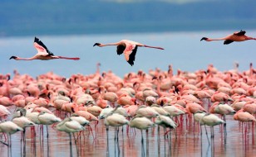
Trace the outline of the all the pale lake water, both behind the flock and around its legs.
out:
<instances>
[{"instance_id":1,"label":"all the pale lake water, both behind the flock and around its legs","mask_svg":"<svg viewBox=\"0 0 256 157\"><path fill-rule=\"evenodd\" d=\"M198 31L198 32L165 32L150 34L118 34L97 36L37 36L47 45L55 55L80 57L79 61L73 60L10 60L10 56L30 57L37 53L33 47L34 36L8 37L0 39L0 74L12 74L17 69L21 74L31 74L36 77L53 71L55 74L69 77L71 74L91 74L96 71L96 63L101 63L101 71L112 70L115 74L123 76L129 72L143 69L167 69L169 64L175 70L195 71L206 69L208 64L214 64L219 70L233 69L234 62L239 62L239 70L249 69L249 63L256 64L256 43L254 40L223 45L223 41L199 41L203 36L221 37L233 31ZM248 36L256 36L256 31L247 31ZM165 50L139 48L135 65L130 66L124 55L116 55L116 47L93 47L95 42L116 42L122 39L135 40L145 45L164 47ZM139 130L119 131L118 140L115 140L114 128L110 129L109 140L106 140L106 129L100 121L94 129L94 137L86 128L85 135L77 140L75 145L69 145L69 136L66 133L55 131L49 127L49 138L39 134L36 128L36 139L31 138L30 129L27 129L26 145L21 143L21 133L12 136L12 148L0 144L0 156L254 156L256 146L252 126L247 126L249 132L242 136L242 126L234 121L232 116L227 118L226 143L224 131L219 126L214 128L214 140L210 145L203 130L200 136L197 125L184 121L172 137L165 138L164 131L157 127L150 129L146 138L143 131L144 143L141 143ZM204 128L203 128L204 129ZM207 130L210 134L209 128ZM158 136L160 135L160 136ZM77 136L77 135L76 135ZM1 137L0 137L1 138ZM109 154L107 154L109 150Z\"/></svg>"}]
</instances>

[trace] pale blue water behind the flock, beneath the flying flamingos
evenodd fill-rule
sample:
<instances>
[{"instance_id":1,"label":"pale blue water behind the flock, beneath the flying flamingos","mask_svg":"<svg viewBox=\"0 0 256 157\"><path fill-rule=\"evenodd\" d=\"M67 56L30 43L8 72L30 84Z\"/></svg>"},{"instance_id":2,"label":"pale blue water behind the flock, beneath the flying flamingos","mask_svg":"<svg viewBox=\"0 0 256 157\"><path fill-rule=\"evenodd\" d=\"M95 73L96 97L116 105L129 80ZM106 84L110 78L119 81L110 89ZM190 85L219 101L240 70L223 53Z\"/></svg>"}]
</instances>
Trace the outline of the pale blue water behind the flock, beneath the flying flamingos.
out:
<instances>
[{"instance_id":1,"label":"pale blue water behind the flock, beneath the flying flamingos","mask_svg":"<svg viewBox=\"0 0 256 157\"><path fill-rule=\"evenodd\" d=\"M169 64L175 69L195 71L206 69L214 64L219 70L233 69L234 62L239 62L239 69L249 69L249 63L256 64L256 41L223 45L223 41L199 41L203 36L222 37L234 31L195 31L164 32L147 34L118 34L96 36L37 36L55 55L80 57L73 60L9 60L10 56L31 57L37 53L33 46L34 36L8 37L0 39L0 74L11 73L17 69L21 74L36 77L53 71L69 77L71 74L91 74L96 71L96 63L101 63L101 71L112 70L123 76L139 69L167 69ZM256 31L247 31L248 36L256 36ZM108 43L122 39L135 40L145 45L155 45L165 50L139 48L135 65L130 66L124 55L116 55L116 46L93 47L95 42Z\"/></svg>"}]
</instances>

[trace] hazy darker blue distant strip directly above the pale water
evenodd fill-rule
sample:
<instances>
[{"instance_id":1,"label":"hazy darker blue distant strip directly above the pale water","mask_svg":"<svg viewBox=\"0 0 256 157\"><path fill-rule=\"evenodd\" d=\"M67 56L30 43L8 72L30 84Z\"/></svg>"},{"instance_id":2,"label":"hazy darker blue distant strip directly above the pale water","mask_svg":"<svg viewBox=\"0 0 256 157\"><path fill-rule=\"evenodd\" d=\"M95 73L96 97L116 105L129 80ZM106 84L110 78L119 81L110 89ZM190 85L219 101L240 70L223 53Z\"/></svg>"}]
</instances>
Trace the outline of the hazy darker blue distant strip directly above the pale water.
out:
<instances>
[{"instance_id":1,"label":"hazy darker blue distant strip directly above the pale water","mask_svg":"<svg viewBox=\"0 0 256 157\"><path fill-rule=\"evenodd\" d=\"M165 31L239 31L254 30L256 21L169 21L169 22L127 22L127 23L84 23L66 24L60 26L0 26L0 37L7 36L59 36L59 35L91 35L91 34L120 34L136 32L165 32Z\"/></svg>"}]
</instances>

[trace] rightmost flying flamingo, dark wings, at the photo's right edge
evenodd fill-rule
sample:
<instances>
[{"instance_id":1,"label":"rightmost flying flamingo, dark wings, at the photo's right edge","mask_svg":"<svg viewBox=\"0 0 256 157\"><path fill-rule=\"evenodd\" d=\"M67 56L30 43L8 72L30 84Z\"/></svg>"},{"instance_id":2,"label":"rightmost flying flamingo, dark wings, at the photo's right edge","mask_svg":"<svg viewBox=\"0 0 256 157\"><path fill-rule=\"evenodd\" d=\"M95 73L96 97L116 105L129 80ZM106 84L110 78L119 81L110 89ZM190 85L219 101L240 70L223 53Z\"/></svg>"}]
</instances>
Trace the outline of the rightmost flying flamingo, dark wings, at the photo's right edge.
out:
<instances>
[{"instance_id":1,"label":"rightmost flying flamingo, dark wings, at the photo's right edge","mask_svg":"<svg viewBox=\"0 0 256 157\"><path fill-rule=\"evenodd\" d=\"M245 36L246 31L237 31L234 32L234 34L225 36L223 38L217 38L217 39L210 39L207 37L203 37L201 40L206 40L206 41L212 41L212 40L224 40L224 45L228 45L234 41L244 41L244 40L256 40L256 38Z\"/></svg>"}]
</instances>

